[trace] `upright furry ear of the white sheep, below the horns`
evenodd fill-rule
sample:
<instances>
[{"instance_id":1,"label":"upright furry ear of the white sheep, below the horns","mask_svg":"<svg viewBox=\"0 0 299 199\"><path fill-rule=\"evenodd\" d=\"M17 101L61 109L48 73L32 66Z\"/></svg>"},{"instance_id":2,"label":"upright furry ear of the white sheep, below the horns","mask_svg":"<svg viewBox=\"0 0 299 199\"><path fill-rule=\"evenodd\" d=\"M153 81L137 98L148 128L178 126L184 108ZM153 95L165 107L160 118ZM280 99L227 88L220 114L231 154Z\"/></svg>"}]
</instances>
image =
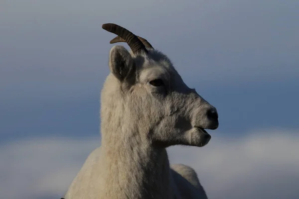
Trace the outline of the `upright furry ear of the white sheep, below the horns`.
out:
<instances>
[{"instance_id":1,"label":"upright furry ear of the white sheep, below the horns","mask_svg":"<svg viewBox=\"0 0 299 199\"><path fill-rule=\"evenodd\" d=\"M124 46L114 46L111 48L109 67L111 73L121 82L134 83L136 65L129 51Z\"/></svg>"}]
</instances>

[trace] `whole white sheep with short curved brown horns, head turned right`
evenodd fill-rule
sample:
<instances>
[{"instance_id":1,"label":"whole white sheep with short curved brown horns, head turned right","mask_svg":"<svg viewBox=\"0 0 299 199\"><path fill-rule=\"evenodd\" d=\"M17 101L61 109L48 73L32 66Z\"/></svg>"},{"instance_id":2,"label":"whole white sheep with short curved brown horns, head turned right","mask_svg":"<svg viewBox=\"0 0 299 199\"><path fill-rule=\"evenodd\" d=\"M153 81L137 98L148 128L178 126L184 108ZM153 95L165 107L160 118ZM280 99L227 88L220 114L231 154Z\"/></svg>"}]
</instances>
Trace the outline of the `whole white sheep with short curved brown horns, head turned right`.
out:
<instances>
[{"instance_id":1,"label":"whole white sheep with short curved brown horns, head turned right","mask_svg":"<svg viewBox=\"0 0 299 199\"><path fill-rule=\"evenodd\" d=\"M101 93L101 147L87 158L65 199L207 199L195 171L169 165L166 148L202 147L218 127L215 107L188 88L166 55L116 24L125 41L110 50Z\"/></svg>"}]
</instances>

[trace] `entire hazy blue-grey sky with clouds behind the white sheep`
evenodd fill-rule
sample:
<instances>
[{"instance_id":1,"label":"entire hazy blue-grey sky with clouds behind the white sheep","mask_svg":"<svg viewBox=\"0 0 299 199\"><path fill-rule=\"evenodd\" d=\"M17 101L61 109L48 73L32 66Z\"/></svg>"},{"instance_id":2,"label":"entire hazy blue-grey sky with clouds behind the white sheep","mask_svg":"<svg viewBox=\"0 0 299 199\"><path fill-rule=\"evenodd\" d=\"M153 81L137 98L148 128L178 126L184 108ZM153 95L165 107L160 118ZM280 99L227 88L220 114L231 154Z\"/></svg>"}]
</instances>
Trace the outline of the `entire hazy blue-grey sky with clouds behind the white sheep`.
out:
<instances>
[{"instance_id":1,"label":"entire hazy blue-grey sky with clouds behind the white sheep","mask_svg":"<svg viewBox=\"0 0 299 199\"><path fill-rule=\"evenodd\" d=\"M170 147L209 199L299 197L298 0L1 0L0 198L58 199L100 145L117 23L217 107L203 148ZM123 44L128 47L126 44Z\"/></svg>"}]
</instances>

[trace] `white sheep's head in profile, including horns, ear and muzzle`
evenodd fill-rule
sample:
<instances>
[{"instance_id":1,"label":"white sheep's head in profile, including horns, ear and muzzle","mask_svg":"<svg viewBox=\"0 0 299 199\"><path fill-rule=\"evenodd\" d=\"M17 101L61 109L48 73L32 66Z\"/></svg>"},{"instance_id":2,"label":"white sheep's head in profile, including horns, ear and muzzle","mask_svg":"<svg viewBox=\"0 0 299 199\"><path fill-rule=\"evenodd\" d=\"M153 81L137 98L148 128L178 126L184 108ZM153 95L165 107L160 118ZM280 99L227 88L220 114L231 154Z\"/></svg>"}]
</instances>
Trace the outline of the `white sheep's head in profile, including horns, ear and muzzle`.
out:
<instances>
[{"instance_id":1,"label":"white sheep's head in profile, including horns, ear and muzzle","mask_svg":"<svg viewBox=\"0 0 299 199\"><path fill-rule=\"evenodd\" d=\"M211 136L205 129L218 127L216 108L187 87L168 57L146 39L116 24L102 27L118 35L110 43L126 42L132 49L117 45L110 50L102 133L122 129L126 132L115 135L119 139L140 136L157 147L206 145Z\"/></svg>"}]
</instances>

